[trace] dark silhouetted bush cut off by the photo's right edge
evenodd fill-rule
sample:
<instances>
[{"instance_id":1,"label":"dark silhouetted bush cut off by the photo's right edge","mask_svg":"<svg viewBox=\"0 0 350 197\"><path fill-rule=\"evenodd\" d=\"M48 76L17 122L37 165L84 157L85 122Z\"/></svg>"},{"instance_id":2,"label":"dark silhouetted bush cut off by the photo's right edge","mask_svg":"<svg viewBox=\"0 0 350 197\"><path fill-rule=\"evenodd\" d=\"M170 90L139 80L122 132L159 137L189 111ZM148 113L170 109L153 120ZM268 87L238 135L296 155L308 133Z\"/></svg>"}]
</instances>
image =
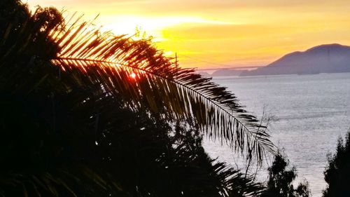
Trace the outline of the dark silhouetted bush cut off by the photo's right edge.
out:
<instances>
[{"instance_id":1,"label":"dark silhouetted bush cut off by the photo's right edge","mask_svg":"<svg viewBox=\"0 0 350 197\"><path fill-rule=\"evenodd\" d=\"M328 156L328 166L324 174L328 186L323 191L323 196L350 196L350 131L345 142L339 138L337 152Z\"/></svg>"}]
</instances>

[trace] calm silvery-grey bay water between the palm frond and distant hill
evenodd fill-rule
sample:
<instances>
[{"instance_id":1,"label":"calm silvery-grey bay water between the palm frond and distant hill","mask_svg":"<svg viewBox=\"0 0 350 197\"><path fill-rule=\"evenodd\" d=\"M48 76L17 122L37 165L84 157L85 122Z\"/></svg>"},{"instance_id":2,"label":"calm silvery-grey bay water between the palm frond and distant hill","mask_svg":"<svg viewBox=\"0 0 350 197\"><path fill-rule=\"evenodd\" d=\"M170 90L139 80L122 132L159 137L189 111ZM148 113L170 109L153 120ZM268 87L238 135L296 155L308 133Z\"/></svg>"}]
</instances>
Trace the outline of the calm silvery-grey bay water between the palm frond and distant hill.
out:
<instances>
[{"instance_id":1,"label":"calm silvery-grey bay water between the palm frond and distant hill","mask_svg":"<svg viewBox=\"0 0 350 197\"><path fill-rule=\"evenodd\" d=\"M285 149L299 179L306 178L313 196L325 188L326 154L335 152L337 138L350 128L350 73L216 77L248 111L277 118L269 125L272 141ZM235 165L230 149L206 142L209 154ZM266 174L260 173L260 179Z\"/></svg>"}]
</instances>

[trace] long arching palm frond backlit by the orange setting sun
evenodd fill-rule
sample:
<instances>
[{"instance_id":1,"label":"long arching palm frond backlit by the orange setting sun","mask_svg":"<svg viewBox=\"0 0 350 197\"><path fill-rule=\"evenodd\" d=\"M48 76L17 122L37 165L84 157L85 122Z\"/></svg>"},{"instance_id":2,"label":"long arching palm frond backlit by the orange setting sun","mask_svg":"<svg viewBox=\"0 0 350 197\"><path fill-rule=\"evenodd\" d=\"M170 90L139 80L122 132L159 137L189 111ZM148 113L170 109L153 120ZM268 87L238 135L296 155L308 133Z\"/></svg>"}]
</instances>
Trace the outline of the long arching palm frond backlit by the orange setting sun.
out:
<instances>
[{"instance_id":1,"label":"long arching palm frond backlit by the orange setting sun","mask_svg":"<svg viewBox=\"0 0 350 197\"><path fill-rule=\"evenodd\" d=\"M123 95L130 106L140 107L145 98L154 112L165 109L172 118L193 118L207 136L221 139L247 159L257 158L258 163L266 151L274 153L265 126L242 109L234 94L194 69L176 67L150 41L102 34L78 21L50 36L60 47L53 64L66 72L78 69L106 93Z\"/></svg>"}]
</instances>

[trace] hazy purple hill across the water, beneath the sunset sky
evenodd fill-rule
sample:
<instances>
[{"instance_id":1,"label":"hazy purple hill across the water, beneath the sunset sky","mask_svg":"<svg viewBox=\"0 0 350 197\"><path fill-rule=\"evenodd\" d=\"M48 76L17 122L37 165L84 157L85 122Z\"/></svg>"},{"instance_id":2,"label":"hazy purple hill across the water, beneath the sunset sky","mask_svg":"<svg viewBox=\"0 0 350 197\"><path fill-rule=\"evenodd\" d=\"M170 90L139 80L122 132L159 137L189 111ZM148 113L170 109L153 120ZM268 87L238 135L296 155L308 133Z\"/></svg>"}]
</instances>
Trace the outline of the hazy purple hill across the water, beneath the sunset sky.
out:
<instances>
[{"instance_id":1,"label":"hazy purple hill across the water, beneath the sunset sky","mask_svg":"<svg viewBox=\"0 0 350 197\"><path fill-rule=\"evenodd\" d=\"M289 53L266 67L242 72L240 76L335 72L350 72L350 46L325 44Z\"/></svg>"}]
</instances>

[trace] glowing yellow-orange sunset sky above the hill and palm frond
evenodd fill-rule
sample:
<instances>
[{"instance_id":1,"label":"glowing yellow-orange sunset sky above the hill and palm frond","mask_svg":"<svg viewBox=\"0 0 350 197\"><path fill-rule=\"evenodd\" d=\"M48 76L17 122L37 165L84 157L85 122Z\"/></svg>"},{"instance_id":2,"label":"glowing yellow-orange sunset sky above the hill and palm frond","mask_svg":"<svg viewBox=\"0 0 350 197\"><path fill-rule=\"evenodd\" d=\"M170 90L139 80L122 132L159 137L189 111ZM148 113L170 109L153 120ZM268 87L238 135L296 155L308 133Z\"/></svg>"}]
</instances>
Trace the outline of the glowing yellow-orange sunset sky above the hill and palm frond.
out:
<instances>
[{"instance_id":1,"label":"glowing yellow-orange sunset sky above the hill and palm frond","mask_svg":"<svg viewBox=\"0 0 350 197\"><path fill-rule=\"evenodd\" d=\"M182 67L264 66L323 43L350 45L349 0L27 0L85 14L104 30L153 36Z\"/></svg>"}]
</instances>

